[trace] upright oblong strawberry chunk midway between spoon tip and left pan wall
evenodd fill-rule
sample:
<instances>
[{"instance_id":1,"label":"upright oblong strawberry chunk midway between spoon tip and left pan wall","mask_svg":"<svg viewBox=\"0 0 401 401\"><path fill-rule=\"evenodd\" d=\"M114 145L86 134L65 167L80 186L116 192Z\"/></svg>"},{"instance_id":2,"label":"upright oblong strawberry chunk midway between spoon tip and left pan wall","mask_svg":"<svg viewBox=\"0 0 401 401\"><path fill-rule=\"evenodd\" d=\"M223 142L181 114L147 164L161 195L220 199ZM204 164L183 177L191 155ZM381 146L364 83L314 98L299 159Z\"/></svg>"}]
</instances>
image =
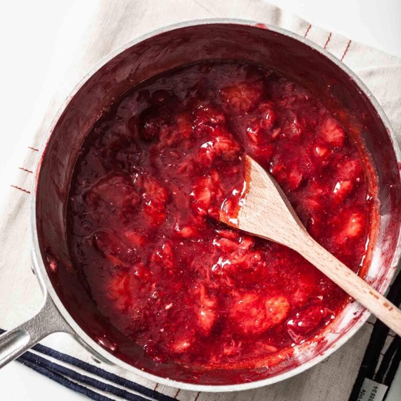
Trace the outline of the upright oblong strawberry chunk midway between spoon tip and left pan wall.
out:
<instances>
[{"instance_id":1,"label":"upright oblong strawberry chunk midway between spoon tip and left pan wall","mask_svg":"<svg viewBox=\"0 0 401 401\"><path fill-rule=\"evenodd\" d=\"M144 180L144 212L151 224L160 225L166 220L167 190L155 178L146 177Z\"/></svg>"}]
</instances>

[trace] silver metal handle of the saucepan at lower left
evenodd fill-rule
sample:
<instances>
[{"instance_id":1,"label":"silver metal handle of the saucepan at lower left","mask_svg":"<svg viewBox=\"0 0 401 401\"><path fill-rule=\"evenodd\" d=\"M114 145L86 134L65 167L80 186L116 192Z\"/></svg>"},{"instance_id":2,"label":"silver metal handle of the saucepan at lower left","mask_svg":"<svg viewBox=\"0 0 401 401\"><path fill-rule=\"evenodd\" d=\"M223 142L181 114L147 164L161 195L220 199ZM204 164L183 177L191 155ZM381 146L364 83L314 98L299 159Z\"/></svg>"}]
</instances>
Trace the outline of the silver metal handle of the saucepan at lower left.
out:
<instances>
[{"instance_id":1,"label":"silver metal handle of the saucepan at lower left","mask_svg":"<svg viewBox=\"0 0 401 401\"><path fill-rule=\"evenodd\" d=\"M46 294L45 302L37 315L0 335L0 368L22 355L49 334L56 332L74 334L56 305Z\"/></svg>"}]
</instances>

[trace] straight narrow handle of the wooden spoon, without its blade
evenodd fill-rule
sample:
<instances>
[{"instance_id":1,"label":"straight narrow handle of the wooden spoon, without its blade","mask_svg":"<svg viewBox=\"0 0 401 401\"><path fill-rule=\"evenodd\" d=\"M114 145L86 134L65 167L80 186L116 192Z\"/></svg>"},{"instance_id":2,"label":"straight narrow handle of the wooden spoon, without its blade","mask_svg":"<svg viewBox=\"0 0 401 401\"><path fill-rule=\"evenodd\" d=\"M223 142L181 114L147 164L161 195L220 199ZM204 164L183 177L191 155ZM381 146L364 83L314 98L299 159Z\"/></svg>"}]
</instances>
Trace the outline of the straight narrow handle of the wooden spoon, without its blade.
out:
<instances>
[{"instance_id":1,"label":"straight narrow handle of the wooden spoon, without its blade","mask_svg":"<svg viewBox=\"0 0 401 401\"><path fill-rule=\"evenodd\" d=\"M300 241L295 249L307 261L316 266L325 276L351 295L373 315L401 336L401 311L366 281L341 263L329 251L313 240L308 234L306 241Z\"/></svg>"}]
</instances>

